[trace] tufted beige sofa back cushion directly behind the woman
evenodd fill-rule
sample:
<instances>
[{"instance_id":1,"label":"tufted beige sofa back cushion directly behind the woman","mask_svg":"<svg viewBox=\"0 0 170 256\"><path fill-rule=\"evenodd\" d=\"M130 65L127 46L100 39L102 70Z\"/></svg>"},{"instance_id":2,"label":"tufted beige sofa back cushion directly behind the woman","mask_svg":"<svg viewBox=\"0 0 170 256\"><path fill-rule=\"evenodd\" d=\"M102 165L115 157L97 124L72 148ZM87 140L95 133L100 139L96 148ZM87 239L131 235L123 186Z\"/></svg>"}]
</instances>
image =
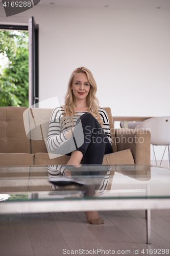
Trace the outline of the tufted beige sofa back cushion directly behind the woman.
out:
<instances>
[{"instance_id":1,"label":"tufted beige sofa back cushion directly behind the woman","mask_svg":"<svg viewBox=\"0 0 170 256\"><path fill-rule=\"evenodd\" d=\"M111 137L113 141L113 152L117 152L117 146L115 143L115 132L114 124L110 108L104 108L108 114ZM40 108L30 108L28 109L29 114L29 125L28 131L26 127L26 133L31 139L31 153L35 154L38 152L47 153L46 139L48 134L48 126L50 117L52 115L53 109L40 109ZM30 129L30 130L29 130ZM30 132L29 132L30 131ZM49 152L48 153L52 153Z\"/></svg>"}]
</instances>

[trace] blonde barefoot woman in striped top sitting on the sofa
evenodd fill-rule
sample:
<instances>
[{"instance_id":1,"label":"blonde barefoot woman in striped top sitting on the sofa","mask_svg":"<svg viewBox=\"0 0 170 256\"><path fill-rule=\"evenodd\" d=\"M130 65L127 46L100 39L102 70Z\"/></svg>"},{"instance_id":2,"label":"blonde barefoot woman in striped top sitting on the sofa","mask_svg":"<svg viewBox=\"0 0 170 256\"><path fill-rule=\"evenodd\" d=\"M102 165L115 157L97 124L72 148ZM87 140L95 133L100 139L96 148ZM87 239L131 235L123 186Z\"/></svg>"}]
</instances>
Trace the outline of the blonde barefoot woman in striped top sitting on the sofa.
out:
<instances>
[{"instance_id":1,"label":"blonde barefoot woman in striped top sitting on the sofa","mask_svg":"<svg viewBox=\"0 0 170 256\"><path fill-rule=\"evenodd\" d=\"M79 165L81 161L83 164L102 164L104 155L113 153L107 113L99 107L96 91L92 73L87 68L77 68L68 82L65 105L52 113L47 144L56 154L70 156L67 165ZM83 141L80 134L83 134ZM69 170L64 174L70 176ZM86 211L85 214L91 224L104 223L97 211Z\"/></svg>"}]
</instances>

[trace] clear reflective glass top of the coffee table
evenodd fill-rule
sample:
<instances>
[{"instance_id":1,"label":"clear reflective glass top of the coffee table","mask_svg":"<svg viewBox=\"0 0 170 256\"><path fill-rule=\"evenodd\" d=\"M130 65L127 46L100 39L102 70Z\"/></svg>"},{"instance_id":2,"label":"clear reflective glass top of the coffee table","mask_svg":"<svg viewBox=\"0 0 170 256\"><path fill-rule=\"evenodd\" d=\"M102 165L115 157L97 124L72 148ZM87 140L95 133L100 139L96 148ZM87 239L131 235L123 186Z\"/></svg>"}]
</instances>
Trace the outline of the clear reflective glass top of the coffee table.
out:
<instances>
[{"instance_id":1,"label":"clear reflective glass top of the coffee table","mask_svg":"<svg viewBox=\"0 0 170 256\"><path fill-rule=\"evenodd\" d=\"M169 199L170 171L142 164L0 167L2 202L90 198Z\"/></svg>"}]
</instances>

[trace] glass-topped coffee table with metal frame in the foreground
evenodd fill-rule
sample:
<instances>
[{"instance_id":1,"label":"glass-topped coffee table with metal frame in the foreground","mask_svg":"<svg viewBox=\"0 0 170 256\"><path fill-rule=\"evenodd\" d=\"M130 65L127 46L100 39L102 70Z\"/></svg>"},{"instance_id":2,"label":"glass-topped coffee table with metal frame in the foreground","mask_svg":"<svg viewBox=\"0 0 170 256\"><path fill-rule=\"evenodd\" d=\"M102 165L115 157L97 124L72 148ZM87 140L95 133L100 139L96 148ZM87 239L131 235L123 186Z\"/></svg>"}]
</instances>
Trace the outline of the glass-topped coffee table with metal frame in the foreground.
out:
<instances>
[{"instance_id":1,"label":"glass-topped coffee table with metal frame in the foreground","mask_svg":"<svg viewBox=\"0 0 170 256\"><path fill-rule=\"evenodd\" d=\"M0 214L145 210L147 243L151 244L151 209L170 209L168 169L151 165L0 167Z\"/></svg>"}]
</instances>

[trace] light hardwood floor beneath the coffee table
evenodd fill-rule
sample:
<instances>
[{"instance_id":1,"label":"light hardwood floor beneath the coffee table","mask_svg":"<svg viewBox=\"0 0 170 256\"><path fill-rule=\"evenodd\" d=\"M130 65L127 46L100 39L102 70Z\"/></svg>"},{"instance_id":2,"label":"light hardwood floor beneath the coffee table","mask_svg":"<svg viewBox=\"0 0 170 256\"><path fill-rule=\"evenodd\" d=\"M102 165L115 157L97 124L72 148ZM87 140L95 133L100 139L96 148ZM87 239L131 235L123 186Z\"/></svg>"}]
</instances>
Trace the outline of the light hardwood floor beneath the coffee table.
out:
<instances>
[{"instance_id":1,"label":"light hardwood floor beneath the coffee table","mask_svg":"<svg viewBox=\"0 0 170 256\"><path fill-rule=\"evenodd\" d=\"M89 224L84 212L0 215L0 255L60 256L71 254L71 250L71 255L87 255L93 250L92 255L113 255L111 251L170 255L170 210L152 210L151 245L146 244L144 211L102 211L99 215L104 225Z\"/></svg>"}]
</instances>

